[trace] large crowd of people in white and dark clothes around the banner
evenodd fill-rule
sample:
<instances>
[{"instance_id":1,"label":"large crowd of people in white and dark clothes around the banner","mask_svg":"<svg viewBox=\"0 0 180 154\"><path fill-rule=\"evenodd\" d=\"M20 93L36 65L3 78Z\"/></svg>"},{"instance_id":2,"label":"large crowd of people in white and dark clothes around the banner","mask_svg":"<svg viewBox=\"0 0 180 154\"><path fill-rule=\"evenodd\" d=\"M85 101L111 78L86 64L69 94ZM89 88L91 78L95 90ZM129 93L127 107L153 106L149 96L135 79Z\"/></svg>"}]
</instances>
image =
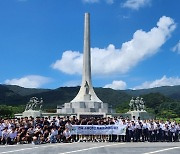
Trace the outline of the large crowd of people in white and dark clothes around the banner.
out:
<instances>
[{"instance_id":1,"label":"large crowd of people in white and dark clothes around the banner","mask_svg":"<svg viewBox=\"0 0 180 154\"><path fill-rule=\"evenodd\" d=\"M124 125L123 135L73 135L73 125ZM0 144L44 144L57 142L178 142L180 123L123 117L0 118Z\"/></svg>"}]
</instances>

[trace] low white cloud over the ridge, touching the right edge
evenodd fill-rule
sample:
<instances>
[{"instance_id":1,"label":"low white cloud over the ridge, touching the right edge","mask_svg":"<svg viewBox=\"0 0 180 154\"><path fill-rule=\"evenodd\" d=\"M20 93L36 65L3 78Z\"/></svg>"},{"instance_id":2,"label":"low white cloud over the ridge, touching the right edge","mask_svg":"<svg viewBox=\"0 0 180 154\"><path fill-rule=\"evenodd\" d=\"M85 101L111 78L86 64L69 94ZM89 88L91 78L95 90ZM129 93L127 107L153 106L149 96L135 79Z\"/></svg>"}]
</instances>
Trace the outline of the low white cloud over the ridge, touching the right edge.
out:
<instances>
[{"instance_id":1,"label":"low white cloud over the ridge, touching the right edge","mask_svg":"<svg viewBox=\"0 0 180 154\"><path fill-rule=\"evenodd\" d=\"M154 87L161 87L161 86L175 86L180 85L180 78L179 77L169 77L163 76L161 79L157 79L155 81L146 81L140 86L136 86L133 89L148 89Z\"/></svg>"}]
</instances>

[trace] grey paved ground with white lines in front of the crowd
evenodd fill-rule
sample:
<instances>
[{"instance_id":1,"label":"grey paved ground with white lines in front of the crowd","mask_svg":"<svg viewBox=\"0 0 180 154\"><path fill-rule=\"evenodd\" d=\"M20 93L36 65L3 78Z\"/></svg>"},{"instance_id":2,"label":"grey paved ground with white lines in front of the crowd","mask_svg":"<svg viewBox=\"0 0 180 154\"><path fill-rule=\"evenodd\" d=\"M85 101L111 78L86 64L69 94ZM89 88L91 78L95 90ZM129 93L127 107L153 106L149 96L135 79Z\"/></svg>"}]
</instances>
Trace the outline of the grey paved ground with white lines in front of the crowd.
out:
<instances>
[{"instance_id":1,"label":"grey paved ground with white lines in front of the crowd","mask_svg":"<svg viewBox=\"0 0 180 154\"><path fill-rule=\"evenodd\" d=\"M0 154L180 154L177 143L56 143L0 145Z\"/></svg>"}]
</instances>

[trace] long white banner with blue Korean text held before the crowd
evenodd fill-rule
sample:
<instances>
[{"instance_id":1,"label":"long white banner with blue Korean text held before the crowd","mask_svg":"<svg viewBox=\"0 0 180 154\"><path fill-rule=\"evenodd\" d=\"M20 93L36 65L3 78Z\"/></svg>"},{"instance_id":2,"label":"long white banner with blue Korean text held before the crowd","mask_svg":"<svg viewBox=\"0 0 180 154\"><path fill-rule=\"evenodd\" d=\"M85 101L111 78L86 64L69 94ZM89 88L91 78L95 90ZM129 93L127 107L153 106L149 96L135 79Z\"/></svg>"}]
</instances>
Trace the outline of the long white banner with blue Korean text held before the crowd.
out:
<instances>
[{"instance_id":1,"label":"long white banner with blue Korean text held before the crowd","mask_svg":"<svg viewBox=\"0 0 180 154\"><path fill-rule=\"evenodd\" d=\"M72 135L126 135L125 125L72 125Z\"/></svg>"}]
</instances>

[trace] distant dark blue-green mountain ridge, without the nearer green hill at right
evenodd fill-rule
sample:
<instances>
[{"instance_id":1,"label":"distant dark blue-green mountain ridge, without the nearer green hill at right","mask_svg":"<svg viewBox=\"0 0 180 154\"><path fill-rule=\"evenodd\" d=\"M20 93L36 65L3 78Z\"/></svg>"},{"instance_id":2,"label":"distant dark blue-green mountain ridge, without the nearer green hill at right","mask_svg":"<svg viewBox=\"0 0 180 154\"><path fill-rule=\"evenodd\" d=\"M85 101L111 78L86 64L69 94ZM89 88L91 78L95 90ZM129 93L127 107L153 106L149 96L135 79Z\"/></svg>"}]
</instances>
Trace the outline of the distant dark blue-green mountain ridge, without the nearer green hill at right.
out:
<instances>
[{"instance_id":1,"label":"distant dark blue-green mountain ridge, without the nearer green hill at right","mask_svg":"<svg viewBox=\"0 0 180 154\"><path fill-rule=\"evenodd\" d=\"M25 105L33 96L43 98L47 108L71 101L79 91L78 87L59 87L56 89L23 88L15 85L0 84L0 104ZM127 102L132 96L141 96L149 93L160 93L175 100L180 100L180 86L163 86L140 90L113 90L110 88L94 88L97 96L104 102L116 107Z\"/></svg>"}]
</instances>

